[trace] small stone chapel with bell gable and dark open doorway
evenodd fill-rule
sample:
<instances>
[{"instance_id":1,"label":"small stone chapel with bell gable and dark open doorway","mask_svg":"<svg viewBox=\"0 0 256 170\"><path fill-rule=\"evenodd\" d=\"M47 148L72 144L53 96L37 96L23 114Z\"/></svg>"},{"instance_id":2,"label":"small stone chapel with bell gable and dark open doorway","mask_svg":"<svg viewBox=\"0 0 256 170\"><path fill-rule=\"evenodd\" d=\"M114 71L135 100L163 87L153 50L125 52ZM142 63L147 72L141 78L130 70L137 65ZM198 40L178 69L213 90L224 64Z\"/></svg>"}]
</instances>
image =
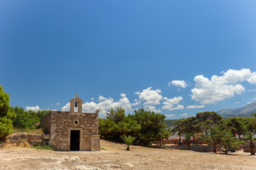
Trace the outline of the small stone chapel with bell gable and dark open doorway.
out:
<instances>
[{"instance_id":1,"label":"small stone chapel with bell gable and dark open doorway","mask_svg":"<svg viewBox=\"0 0 256 170\"><path fill-rule=\"evenodd\" d=\"M44 136L55 150L100 151L99 110L82 113L82 102L76 94L70 100L70 112L50 111L41 119Z\"/></svg>"}]
</instances>

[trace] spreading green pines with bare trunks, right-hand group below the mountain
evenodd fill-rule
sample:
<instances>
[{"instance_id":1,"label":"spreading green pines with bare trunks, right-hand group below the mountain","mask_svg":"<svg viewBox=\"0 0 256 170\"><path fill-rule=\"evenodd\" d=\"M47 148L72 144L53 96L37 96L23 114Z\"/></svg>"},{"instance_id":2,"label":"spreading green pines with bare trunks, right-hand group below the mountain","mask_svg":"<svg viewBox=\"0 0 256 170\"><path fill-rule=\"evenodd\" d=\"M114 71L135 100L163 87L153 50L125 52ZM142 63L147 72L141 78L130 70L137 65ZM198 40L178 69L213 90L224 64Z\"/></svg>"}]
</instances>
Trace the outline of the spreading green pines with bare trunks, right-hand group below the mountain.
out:
<instances>
[{"instance_id":1,"label":"spreading green pines with bare trunks, right-hand group below the mountain","mask_svg":"<svg viewBox=\"0 0 256 170\"><path fill-rule=\"evenodd\" d=\"M252 115L256 117L256 113ZM190 145L191 137L196 143L195 135L200 134L203 140L213 145L214 152L216 152L216 146L220 145L225 147L226 154L228 153L228 147L238 148L240 144L244 143L244 140L250 140L252 152L252 141L255 140L253 134L256 132L256 118L228 118L224 120L217 113L206 111L197 113L193 117L176 120L171 131L178 134L180 144L181 135L186 137L188 145ZM254 152L251 154L254 154Z\"/></svg>"}]
</instances>

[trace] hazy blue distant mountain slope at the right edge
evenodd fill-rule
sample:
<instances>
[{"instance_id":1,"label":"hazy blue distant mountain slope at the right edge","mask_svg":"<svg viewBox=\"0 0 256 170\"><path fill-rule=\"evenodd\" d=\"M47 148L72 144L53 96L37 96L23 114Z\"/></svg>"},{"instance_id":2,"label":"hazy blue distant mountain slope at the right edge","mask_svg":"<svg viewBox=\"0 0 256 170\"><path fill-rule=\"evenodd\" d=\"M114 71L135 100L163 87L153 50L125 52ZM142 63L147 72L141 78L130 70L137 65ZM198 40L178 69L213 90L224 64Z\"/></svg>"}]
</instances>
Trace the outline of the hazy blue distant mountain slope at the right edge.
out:
<instances>
[{"instance_id":1,"label":"hazy blue distant mountain slope at the right edge","mask_svg":"<svg viewBox=\"0 0 256 170\"><path fill-rule=\"evenodd\" d=\"M223 118L252 118L252 113L256 113L256 102L247 104L247 106L244 106L242 108L224 108L217 113Z\"/></svg>"}]
</instances>

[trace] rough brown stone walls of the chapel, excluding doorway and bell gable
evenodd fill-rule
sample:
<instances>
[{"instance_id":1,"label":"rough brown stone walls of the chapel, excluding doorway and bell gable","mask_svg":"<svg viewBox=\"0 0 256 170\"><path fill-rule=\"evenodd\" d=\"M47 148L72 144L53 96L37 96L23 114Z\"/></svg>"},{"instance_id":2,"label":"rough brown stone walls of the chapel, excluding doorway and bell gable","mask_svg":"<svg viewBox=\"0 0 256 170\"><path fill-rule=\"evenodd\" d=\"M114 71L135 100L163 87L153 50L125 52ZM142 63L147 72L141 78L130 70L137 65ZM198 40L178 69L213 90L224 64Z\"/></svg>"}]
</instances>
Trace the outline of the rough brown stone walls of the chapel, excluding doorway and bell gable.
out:
<instances>
[{"instance_id":1,"label":"rough brown stone walls of the chapel, excluding doorway and bell gable","mask_svg":"<svg viewBox=\"0 0 256 170\"><path fill-rule=\"evenodd\" d=\"M52 111L50 128L50 145L57 150L69 150L70 130L82 129L82 148L80 150L91 149L90 135L98 134L98 114L97 113L69 113ZM78 124L75 125L75 120Z\"/></svg>"}]
</instances>

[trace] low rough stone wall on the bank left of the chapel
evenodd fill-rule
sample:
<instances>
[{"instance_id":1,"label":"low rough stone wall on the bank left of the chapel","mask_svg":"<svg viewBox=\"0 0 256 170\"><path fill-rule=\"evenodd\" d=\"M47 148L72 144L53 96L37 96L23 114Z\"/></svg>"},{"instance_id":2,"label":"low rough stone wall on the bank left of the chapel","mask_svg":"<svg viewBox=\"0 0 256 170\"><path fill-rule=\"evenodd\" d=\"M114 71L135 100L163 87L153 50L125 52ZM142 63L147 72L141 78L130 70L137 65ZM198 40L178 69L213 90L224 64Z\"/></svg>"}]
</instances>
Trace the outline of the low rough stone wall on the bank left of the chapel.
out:
<instances>
[{"instance_id":1,"label":"low rough stone wall on the bank left of the chapel","mask_svg":"<svg viewBox=\"0 0 256 170\"><path fill-rule=\"evenodd\" d=\"M35 143L42 142L42 135L17 132L7 136L4 142L5 143L28 142L30 145L33 145Z\"/></svg>"}]
</instances>

